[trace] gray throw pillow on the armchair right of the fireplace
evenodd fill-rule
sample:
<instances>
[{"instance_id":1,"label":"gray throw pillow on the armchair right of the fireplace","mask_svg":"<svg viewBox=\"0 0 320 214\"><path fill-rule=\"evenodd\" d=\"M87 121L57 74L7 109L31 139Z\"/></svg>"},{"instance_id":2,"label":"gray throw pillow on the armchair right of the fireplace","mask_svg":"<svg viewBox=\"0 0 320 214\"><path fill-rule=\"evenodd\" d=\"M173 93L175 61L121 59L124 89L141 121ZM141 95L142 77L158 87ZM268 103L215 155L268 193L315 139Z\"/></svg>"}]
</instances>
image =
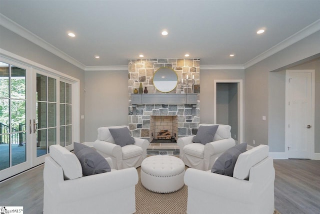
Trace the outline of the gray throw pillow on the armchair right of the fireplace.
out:
<instances>
[{"instance_id":1,"label":"gray throw pillow on the armchair right of the fireplace","mask_svg":"<svg viewBox=\"0 0 320 214\"><path fill-rule=\"evenodd\" d=\"M212 126L199 126L196 135L193 137L193 143L202 143L206 144L213 141L216 130L219 125Z\"/></svg>"}]
</instances>

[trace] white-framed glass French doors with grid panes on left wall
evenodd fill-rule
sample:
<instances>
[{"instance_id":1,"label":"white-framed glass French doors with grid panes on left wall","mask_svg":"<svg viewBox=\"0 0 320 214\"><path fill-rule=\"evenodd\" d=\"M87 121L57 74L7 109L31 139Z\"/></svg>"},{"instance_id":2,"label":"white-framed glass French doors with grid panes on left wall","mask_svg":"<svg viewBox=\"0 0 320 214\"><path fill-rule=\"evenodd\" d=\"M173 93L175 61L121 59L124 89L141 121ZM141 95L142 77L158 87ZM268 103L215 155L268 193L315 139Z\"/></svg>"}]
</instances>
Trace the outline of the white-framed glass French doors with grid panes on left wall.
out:
<instances>
[{"instance_id":1,"label":"white-framed glass French doors with grid panes on left wall","mask_svg":"<svg viewBox=\"0 0 320 214\"><path fill-rule=\"evenodd\" d=\"M0 180L44 162L49 146L72 146L72 83L0 58Z\"/></svg>"}]
</instances>

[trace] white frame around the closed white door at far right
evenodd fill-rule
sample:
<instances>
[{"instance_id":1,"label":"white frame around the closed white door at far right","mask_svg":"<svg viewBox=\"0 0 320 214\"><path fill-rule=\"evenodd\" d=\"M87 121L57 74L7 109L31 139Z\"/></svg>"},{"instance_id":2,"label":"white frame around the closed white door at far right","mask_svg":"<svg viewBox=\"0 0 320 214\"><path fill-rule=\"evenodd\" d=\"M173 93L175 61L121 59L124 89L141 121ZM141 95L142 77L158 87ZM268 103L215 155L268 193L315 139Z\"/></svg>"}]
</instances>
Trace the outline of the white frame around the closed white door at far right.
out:
<instances>
[{"instance_id":1,"label":"white frame around the closed white door at far right","mask_svg":"<svg viewBox=\"0 0 320 214\"><path fill-rule=\"evenodd\" d=\"M288 97L288 73L289 72L305 72L305 73L311 73L311 145L309 145L310 151L309 151L309 157L305 158L310 158L313 159L315 158L315 153L314 153L314 101L315 101L315 71L314 69L288 69L285 70L285 143L284 143L284 152L285 152L285 157L289 157L289 152L286 149L289 145L288 142L288 134L289 134L289 109L288 109L288 102L289 102L289 97ZM312 128L313 127L313 128Z\"/></svg>"}]
</instances>

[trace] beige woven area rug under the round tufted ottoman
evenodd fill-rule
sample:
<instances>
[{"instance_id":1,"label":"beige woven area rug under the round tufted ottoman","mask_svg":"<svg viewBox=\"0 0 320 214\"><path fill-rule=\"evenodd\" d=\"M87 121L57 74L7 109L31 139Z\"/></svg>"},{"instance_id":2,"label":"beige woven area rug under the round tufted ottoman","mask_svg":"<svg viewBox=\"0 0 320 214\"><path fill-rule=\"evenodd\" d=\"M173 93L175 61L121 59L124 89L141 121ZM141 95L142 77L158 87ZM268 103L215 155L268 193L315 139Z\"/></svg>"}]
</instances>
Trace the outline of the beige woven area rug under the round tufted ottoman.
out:
<instances>
[{"instance_id":1,"label":"beige woven area rug under the round tufted ottoman","mask_svg":"<svg viewBox=\"0 0 320 214\"><path fill-rule=\"evenodd\" d=\"M155 193L145 189L140 180L141 167L136 169L139 181L135 185L135 214L184 214L186 213L188 188L171 193ZM201 214L201 213L199 213ZM274 210L273 214L280 214Z\"/></svg>"}]
</instances>

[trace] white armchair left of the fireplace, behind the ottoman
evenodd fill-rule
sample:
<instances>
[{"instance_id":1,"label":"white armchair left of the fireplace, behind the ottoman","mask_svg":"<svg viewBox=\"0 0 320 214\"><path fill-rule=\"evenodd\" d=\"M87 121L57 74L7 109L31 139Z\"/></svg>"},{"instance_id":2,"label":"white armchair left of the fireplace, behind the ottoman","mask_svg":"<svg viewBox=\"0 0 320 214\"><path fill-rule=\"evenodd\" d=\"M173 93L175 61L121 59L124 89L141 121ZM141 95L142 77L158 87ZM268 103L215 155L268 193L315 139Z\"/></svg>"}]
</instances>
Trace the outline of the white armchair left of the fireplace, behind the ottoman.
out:
<instances>
[{"instance_id":1,"label":"white armchair left of the fireplace, behind the ottoman","mask_svg":"<svg viewBox=\"0 0 320 214\"><path fill-rule=\"evenodd\" d=\"M123 147L116 145L109 131L109 128L123 128L128 126L107 126L98 128L97 140L93 142L93 147L103 157L110 157L115 163L115 169L129 167L139 167L146 157L146 149L149 141L133 137L134 143Z\"/></svg>"}]
</instances>

